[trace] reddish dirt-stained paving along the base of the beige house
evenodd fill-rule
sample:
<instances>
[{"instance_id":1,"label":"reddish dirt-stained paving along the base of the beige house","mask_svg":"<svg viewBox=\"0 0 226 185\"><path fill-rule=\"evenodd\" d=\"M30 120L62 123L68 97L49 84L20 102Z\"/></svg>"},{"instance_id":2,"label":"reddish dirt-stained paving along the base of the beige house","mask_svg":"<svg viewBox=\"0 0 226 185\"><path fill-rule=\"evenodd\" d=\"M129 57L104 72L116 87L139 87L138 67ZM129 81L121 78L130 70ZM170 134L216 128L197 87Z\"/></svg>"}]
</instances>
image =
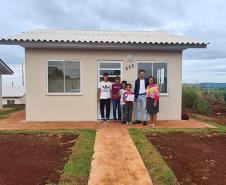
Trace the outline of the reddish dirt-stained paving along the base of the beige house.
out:
<instances>
[{"instance_id":1,"label":"reddish dirt-stained paving along the base of the beige house","mask_svg":"<svg viewBox=\"0 0 226 185\"><path fill-rule=\"evenodd\" d=\"M107 124L107 123L101 123ZM101 124L97 121L62 121L62 122L26 122L25 121L25 111L19 111L10 114L8 118L0 120L0 130L51 130L51 129L96 129ZM122 126L119 122L110 122L109 125ZM123 125L128 128L148 128L150 126L142 126L141 124L136 124L132 126ZM157 121L157 128L213 128L204 122L190 119L176 120L176 121Z\"/></svg>"}]
</instances>

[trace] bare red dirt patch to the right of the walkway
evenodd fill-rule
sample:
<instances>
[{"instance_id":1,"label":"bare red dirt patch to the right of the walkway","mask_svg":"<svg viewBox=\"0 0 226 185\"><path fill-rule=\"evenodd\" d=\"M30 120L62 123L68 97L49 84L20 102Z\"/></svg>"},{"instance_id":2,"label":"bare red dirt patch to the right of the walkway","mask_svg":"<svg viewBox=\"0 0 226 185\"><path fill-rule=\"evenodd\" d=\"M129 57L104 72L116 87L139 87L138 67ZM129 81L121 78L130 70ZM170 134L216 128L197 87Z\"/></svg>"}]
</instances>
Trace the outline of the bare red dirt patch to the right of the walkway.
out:
<instances>
[{"instance_id":1,"label":"bare red dirt patch to the right of the walkway","mask_svg":"<svg viewBox=\"0 0 226 185\"><path fill-rule=\"evenodd\" d=\"M226 184L226 135L153 134L149 140L181 185Z\"/></svg>"}]
</instances>

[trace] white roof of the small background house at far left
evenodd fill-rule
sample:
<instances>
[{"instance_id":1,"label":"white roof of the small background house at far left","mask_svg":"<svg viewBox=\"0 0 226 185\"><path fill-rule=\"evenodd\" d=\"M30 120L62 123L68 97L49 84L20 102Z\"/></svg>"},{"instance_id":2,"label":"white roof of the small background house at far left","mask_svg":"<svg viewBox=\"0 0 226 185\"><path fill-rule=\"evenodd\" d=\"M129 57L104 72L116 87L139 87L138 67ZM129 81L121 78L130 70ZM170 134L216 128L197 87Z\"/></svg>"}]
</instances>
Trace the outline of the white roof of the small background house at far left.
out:
<instances>
[{"instance_id":1,"label":"white roof of the small background house at far left","mask_svg":"<svg viewBox=\"0 0 226 185\"><path fill-rule=\"evenodd\" d=\"M22 86L3 86L2 97L22 97L25 95L25 88Z\"/></svg>"}]
</instances>

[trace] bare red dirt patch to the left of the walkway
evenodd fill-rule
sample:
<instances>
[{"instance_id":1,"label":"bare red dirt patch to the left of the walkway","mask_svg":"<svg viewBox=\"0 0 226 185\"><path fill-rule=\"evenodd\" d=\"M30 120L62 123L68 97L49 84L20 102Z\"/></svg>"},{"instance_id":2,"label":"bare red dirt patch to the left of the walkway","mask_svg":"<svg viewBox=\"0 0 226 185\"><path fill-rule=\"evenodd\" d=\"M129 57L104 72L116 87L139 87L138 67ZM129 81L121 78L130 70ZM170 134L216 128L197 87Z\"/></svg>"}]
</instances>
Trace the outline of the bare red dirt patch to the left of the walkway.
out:
<instances>
[{"instance_id":1,"label":"bare red dirt patch to the left of the walkway","mask_svg":"<svg viewBox=\"0 0 226 185\"><path fill-rule=\"evenodd\" d=\"M58 183L76 138L75 135L0 135L0 185Z\"/></svg>"}]
</instances>

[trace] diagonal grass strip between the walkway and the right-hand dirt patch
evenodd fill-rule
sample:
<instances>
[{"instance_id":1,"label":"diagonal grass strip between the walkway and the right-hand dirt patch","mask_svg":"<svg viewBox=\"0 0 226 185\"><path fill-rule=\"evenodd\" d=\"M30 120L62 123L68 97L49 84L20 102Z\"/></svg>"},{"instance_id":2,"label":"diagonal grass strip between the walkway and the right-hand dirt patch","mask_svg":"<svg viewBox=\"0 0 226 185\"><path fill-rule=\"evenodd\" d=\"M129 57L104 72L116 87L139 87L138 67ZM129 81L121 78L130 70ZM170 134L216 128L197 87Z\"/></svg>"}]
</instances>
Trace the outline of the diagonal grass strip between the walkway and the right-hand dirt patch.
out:
<instances>
[{"instance_id":1,"label":"diagonal grass strip between the walkway and the right-hand dirt patch","mask_svg":"<svg viewBox=\"0 0 226 185\"><path fill-rule=\"evenodd\" d=\"M173 171L168 167L157 149L148 141L146 134L139 129L129 129L129 133L144 161L153 184L177 184Z\"/></svg>"}]
</instances>

